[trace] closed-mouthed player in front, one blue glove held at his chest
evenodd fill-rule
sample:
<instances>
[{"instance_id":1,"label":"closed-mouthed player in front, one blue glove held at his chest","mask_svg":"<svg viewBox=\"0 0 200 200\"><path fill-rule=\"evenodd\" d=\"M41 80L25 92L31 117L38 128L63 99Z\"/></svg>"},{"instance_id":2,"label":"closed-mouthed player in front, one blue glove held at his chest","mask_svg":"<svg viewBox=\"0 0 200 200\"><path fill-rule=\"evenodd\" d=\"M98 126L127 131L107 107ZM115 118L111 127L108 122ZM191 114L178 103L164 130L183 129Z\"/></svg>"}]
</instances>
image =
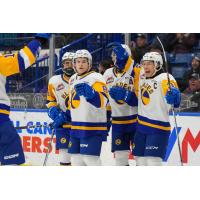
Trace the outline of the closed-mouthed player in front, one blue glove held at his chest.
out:
<instances>
[{"instance_id":1,"label":"closed-mouthed player in front, one blue glove held at his chest","mask_svg":"<svg viewBox=\"0 0 200 200\"><path fill-rule=\"evenodd\" d=\"M101 165L102 141L107 137L107 86L103 76L92 71L92 56L87 50L76 51L74 68L76 74L69 80L71 163Z\"/></svg>"}]
</instances>

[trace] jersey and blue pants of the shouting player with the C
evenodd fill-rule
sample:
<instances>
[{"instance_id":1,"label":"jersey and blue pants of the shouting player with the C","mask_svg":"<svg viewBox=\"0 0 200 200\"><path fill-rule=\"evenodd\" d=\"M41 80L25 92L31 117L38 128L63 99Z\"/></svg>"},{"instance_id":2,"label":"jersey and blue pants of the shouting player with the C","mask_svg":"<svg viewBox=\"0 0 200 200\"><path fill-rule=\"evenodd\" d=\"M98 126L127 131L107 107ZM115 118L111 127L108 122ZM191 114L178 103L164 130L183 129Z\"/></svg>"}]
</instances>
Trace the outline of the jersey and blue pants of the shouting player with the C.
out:
<instances>
[{"instance_id":1,"label":"jersey and blue pants of the shouting player with the C","mask_svg":"<svg viewBox=\"0 0 200 200\"><path fill-rule=\"evenodd\" d=\"M160 70L146 78L141 68L138 75L138 127L133 153L140 157L164 158L171 130L170 105L165 99L169 90L167 74ZM171 85L178 88L174 77L169 74L169 78Z\"/></svg>"}]
</instances>

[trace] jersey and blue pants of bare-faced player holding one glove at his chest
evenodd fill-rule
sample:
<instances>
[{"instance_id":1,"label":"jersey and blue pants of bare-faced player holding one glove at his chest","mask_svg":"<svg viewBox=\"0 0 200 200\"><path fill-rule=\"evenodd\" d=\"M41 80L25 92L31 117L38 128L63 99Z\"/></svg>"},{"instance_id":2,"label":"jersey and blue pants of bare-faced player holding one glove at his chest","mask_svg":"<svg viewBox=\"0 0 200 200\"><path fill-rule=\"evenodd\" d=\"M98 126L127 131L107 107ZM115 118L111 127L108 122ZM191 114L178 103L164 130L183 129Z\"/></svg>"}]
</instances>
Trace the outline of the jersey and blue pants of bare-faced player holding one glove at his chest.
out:
<instances>
[{"instance_id":1,"label":"jersey and blue pants of bare-faced player holding one glove at his chest","mask_svg":"<svg viewBox=\"0 0 200 200\"><path fill-rule=\"evenodd\" d=\"M76 94L77 84L87 83L95 91L93 99ZM74 74L69 80L71 133L69 152L99 156L107 137L108 91L103 76L94 71Z\"/></svg>"}]
</instances>

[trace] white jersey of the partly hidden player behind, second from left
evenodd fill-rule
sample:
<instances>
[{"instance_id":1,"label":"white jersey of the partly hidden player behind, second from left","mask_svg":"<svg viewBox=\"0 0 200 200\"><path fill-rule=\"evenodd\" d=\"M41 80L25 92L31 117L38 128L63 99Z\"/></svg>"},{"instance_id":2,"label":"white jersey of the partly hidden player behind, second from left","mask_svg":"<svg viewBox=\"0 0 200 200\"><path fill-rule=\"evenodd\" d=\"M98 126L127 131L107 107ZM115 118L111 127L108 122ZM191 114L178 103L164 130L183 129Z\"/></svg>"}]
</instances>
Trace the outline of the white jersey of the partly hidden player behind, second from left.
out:
<instances>
[{"instance_id":1,"label":"white jersey of the partly hidden player behind, second from left","mask_svg":"<svg viewBox=\"0 0 200 200\"><path fill-rule=\"evenodd\" d=\"M66 112L69 103L69 78L65 74L55 75L50 78L47 93L47 108L57 106ZM63 124L63 128L71 128L69 123Z\"/></svg>"}]
</instances>

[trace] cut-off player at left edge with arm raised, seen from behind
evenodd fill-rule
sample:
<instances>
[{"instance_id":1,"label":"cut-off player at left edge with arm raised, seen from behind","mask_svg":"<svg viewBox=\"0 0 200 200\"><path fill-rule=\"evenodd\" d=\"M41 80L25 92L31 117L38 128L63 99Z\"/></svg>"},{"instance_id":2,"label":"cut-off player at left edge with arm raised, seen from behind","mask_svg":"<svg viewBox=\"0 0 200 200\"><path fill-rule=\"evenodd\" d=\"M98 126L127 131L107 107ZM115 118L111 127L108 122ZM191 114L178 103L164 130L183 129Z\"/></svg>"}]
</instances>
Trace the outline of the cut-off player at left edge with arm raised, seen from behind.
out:
<instances>
[{"instance_id":1,"label":"cut-off player at left edge with arm raised, seen from behind","mask_svg":"<svg viewBox=\"0 0 200 200\"><path fill-rule=\"evenodd\" d=\"M22 144L10 121L10 100L6 94L6 77L30 67L39 55L41 42L48 34L37 34L37 39L28 43L15 54L0 55L0 165L20 165L25 162Z\"/></svg>"}]
</instances>

